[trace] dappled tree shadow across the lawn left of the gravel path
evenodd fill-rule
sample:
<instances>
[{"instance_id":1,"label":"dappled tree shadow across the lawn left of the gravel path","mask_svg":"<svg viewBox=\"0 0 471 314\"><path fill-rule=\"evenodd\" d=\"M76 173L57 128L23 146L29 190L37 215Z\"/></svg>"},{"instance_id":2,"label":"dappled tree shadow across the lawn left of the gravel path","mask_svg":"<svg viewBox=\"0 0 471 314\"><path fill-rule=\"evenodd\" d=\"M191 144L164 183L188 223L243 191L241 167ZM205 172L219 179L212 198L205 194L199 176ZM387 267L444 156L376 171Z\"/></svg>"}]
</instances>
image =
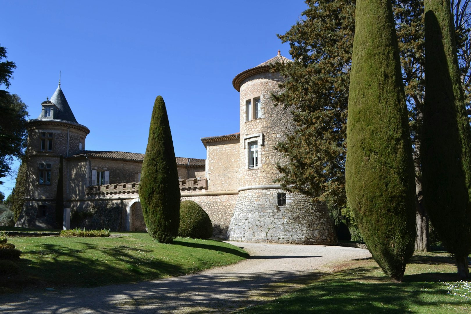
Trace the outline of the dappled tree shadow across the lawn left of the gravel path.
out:
<instances>
[{"instance_id":1,"label":"dappled tree shadow across the lawn left of the gravel path","mask_svg":"<svg viewBox=\"0 0 471 314\"><path fill-rule=\"evenodd\" d=\"M37 250L27 251L35 261L20 258L18 274L0 282L0 287L95 287L108 284L138 282L166 276L187 274L188 270L159 258L153 251L127 246L106 248L78 242L80 250L57 244L41 244ZM81 254L87 251L86 254ZM134 253L134 254L131 254ZM104 254L103 254L104 253Z\"/></svg>"}]
</instances>

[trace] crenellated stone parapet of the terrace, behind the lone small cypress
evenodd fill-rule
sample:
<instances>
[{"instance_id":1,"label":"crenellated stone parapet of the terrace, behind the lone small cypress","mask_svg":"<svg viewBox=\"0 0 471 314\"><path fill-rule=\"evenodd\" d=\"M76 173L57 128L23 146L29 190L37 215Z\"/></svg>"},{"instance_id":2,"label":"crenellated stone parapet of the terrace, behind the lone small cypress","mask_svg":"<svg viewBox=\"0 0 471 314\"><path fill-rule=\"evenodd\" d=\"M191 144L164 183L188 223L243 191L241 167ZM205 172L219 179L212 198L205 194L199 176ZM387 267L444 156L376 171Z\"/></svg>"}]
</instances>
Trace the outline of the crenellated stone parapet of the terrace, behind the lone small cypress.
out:
<instances>
[{"instance_id":1,"label":"crenellated stone parapet of the terrace, behind the lone small cypress","mask_svg":"<svg viewBox=\"0 0 471 314\"><path fill-rule=\"evenodd\" d=\"M181 191L202 190L208 188L206 178L179 179ZM139 182L91 185L85 187L86 195L139 193Z\"/></svg>"}]
</instances>

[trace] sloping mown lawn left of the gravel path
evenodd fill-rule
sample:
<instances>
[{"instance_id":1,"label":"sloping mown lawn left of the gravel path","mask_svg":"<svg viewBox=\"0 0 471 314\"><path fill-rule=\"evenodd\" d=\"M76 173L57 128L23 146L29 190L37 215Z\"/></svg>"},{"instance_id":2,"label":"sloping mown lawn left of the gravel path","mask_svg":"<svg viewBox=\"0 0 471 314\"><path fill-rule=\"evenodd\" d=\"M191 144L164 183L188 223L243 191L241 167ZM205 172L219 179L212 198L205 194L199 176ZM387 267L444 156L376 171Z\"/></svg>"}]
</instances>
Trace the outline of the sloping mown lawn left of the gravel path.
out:
<instances>
[{"instance_id":1,"label":"sloping mown lawn left of the gravel path","mask_svg":"<svg viewBox=\"0 0 471 314\"><path fill-rule=\"evenodd\" d=\"M225 242L176 238L174 244L162 244L147 233L122 234L110 238L8 236L8 242L23 254L19 273L0 278L0 292L153 280L248 257Z\"/></svg>"}]
</instances>

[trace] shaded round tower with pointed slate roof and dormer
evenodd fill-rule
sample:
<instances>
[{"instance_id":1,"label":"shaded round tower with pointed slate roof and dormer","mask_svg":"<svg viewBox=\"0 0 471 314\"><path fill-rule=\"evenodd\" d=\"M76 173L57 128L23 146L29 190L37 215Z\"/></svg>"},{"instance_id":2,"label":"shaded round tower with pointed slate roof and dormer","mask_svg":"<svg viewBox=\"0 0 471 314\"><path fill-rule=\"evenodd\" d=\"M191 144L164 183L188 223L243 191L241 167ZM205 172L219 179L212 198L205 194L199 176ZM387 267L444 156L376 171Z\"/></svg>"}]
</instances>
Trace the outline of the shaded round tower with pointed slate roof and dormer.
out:
<instances>
[{"instance_id":1,"label":"shaded round tower with pointed slate roof and dormer","mask_svg":"<svg viewBox=\"0 0 471 314\"><path fill-rule=\"evenodd\" d=\"M90 130L77 122L59 86L52 97L41 103L41 114L27 124L26 195L23 212L16 226L51 228L55 225L60 156L85 149ZM71 178L64 178L67 180ZM63 182L63 186L65 186ZM64 188L64 198L66 191Z\"/></svg>"}]
</instances>

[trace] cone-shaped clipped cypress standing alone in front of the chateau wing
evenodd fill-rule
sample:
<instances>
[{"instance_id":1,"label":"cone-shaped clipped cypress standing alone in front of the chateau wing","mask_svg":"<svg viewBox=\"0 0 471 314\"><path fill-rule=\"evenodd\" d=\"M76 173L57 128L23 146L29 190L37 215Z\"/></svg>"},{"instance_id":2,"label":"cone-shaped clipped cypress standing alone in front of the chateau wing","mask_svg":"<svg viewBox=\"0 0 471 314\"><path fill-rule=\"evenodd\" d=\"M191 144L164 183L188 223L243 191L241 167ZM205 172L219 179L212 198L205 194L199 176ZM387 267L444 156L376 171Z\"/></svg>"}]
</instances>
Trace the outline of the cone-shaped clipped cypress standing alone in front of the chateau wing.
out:
<instances>
[{"instance_id":1,"label":"cone-shaped clipped cypress standing alone in front of the chateau wing","mask_svg":"<svg viewBox=\"0 0 471 314\"><path fill-rule=\"evenodd\" d=\"M146 155L142 163L139 198L147 232L158 242L171 243L180 222L180 188L167 109L155 98Z\"/></svg>"}]
</instances>

